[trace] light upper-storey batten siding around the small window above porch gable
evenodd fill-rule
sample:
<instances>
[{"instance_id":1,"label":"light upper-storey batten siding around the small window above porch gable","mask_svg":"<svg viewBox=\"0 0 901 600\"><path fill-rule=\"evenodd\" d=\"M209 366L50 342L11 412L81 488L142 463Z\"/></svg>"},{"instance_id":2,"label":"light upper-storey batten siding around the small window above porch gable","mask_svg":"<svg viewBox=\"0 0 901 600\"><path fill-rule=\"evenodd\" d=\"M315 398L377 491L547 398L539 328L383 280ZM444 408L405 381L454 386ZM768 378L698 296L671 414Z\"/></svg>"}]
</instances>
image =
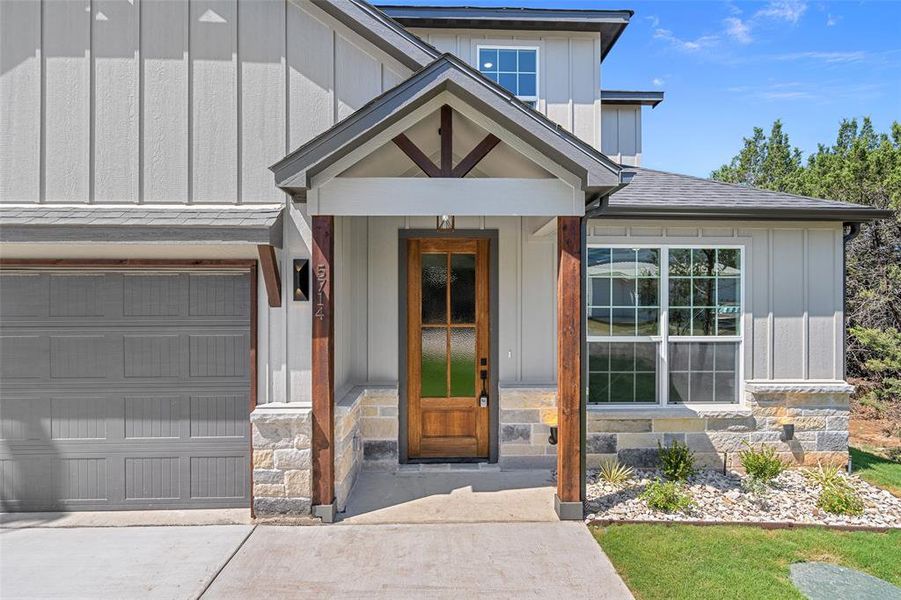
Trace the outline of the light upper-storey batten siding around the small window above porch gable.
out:
<instances>
[{"instance_id":1,"label":"light upper-storey batten siding around the small window above porch gable","mask_svg":"<svg viewBox=\"0 0 901 600\"><path fill-rule=\"evenodd\" d=\"M474 68L478 68L479 45L537 46L538 110L594 147L601 147L600 36L484 29L411 31Z\"/></svg>"}]
</instances>

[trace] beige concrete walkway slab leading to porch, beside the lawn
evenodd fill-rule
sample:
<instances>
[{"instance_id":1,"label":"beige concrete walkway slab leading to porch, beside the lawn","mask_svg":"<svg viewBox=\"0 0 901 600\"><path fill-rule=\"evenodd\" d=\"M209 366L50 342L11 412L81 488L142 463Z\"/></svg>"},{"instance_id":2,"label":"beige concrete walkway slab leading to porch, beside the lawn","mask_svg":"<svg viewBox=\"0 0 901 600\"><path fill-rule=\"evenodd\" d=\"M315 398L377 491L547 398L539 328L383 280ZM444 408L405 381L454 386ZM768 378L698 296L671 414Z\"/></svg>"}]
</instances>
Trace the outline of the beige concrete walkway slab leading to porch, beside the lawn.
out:
<instances>
[{"instance_id":1,"label":"beige concrete walkway slab leading to porch, beside the lawn","mask_svg":"<svg viewBox=\"0 0 901 600\"><path fill-rule=\"evenodd\" d=\"M207 599L632 598L582 523L257 527Z\"/></svg>"}]
</instances>

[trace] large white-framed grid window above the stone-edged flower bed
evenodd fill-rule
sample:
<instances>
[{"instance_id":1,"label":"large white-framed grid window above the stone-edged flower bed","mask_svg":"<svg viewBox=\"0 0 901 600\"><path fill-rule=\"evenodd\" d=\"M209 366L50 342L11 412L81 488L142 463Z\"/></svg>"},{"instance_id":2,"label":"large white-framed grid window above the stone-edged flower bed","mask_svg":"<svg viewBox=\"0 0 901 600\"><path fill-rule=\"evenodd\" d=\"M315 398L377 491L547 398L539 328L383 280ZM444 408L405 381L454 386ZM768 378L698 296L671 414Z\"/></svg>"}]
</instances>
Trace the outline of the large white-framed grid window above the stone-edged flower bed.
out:
<instances>
[{"instance_id":1,"label":"large white-framed grid window above the stone-edged flower bed","mask_svg":"<svg viewBox=\"0 0 901 600\"><path fill-rule=\"evenodd\" d=\"M591 246L588 401L738 402L742 251Z\"/></svg>"}]
</instances>

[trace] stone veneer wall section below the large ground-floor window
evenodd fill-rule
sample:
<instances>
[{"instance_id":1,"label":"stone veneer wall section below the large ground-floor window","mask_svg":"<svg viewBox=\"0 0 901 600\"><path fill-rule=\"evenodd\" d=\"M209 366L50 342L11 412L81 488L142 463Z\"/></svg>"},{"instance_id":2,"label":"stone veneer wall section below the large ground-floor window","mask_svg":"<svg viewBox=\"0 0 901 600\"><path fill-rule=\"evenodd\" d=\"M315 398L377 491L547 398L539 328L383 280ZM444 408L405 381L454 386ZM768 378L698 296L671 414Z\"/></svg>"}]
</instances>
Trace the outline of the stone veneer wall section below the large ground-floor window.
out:
<instances>
[{"instance_id":1,"label":"stone veneer wall section below the large ground-floor window","mask_svg":"<svg viewBox=\"0 0 901 600\"><path fill-rule=\"evenodd\" d=\"M745 404L728 410L695 411L688 407L635 410L588 410L588 468L605 458L634 467L653 467L658 442L679 440L694 451L701 468L740 467L738 453L752 446L772 446L796 466L848 460L848 398L844 383L748 383ZM780 440L783 424L794 424L794 439Z\"/></svg>"}]
</instances>

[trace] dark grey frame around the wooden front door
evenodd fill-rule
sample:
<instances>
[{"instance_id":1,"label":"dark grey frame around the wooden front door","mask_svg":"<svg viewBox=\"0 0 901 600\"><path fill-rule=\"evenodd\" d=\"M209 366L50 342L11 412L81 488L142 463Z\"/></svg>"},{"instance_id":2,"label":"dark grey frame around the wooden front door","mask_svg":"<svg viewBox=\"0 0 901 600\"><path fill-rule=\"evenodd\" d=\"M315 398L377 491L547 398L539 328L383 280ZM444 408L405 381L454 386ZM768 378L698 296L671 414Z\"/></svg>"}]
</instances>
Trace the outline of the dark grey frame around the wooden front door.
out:
<instances>
[{"instance_id":1,"label":"dark grey frame around the wooden front door","mask_svg":"<svg viewBox=\"0 0 901 600\"><path fill-rule=\"evenodd\" d=\"M498 230L497 229L455 229L437 231L434 229L399 229L398 232L398 278L397 278L397 394L398 394L398 461L411 462L407 449L407 240L423 238L469 238L488 240L488 462L498 459L498 417L500 396L498 394ZM428 459L417 458L412 462L485 462L485 459Z\"/></svg>"}]
</instances>

